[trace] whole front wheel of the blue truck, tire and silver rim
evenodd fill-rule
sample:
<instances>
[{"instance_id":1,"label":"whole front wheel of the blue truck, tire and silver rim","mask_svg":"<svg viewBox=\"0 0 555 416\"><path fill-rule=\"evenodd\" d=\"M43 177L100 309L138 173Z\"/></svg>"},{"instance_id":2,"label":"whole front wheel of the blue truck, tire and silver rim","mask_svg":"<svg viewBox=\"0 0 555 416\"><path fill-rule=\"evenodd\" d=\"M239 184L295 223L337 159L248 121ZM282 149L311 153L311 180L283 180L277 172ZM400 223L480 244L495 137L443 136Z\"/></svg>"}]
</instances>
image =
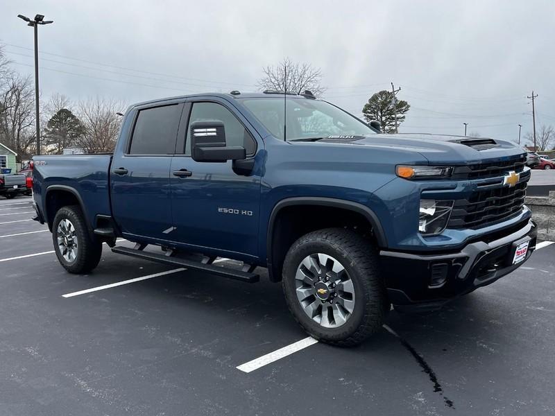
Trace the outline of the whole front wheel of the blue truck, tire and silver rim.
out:
<instances>
[{"instance_id":1,"label":"whole front wheel of the blue truck, tire and silver rim","mask_svg":"<svg viewBox=\"0 0 555 416\"><path fill-rule=\"evenodd\" d=\"M377 251L347 229L321 229L293 243L282 284L301 327L333 345L361 343L379 331L389 309Z\"/></svg>"}]
</instances>

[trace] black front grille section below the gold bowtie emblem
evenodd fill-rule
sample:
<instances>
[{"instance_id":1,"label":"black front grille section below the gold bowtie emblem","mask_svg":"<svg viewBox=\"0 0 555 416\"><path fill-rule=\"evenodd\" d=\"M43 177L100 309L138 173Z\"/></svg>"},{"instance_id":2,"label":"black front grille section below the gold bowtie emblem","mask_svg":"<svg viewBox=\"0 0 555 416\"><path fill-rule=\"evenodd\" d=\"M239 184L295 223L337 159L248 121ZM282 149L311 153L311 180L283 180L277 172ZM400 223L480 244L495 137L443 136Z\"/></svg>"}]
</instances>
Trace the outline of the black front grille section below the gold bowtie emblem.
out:
<instances>
[{"instance_id":1,"label":"black front grille section below the gold bowtie emblem","mask_svg":"<svg viewBox=\"0 0 555 416\"><path fill-rule=\"evenodd\" d=\"M529 171L524 180L515 187L500 187L493 189L477 189L468 199L454 201L453 211L447 228L480 228L500 223L517 216L524 205Z\"/></svg>"}]
</instances>

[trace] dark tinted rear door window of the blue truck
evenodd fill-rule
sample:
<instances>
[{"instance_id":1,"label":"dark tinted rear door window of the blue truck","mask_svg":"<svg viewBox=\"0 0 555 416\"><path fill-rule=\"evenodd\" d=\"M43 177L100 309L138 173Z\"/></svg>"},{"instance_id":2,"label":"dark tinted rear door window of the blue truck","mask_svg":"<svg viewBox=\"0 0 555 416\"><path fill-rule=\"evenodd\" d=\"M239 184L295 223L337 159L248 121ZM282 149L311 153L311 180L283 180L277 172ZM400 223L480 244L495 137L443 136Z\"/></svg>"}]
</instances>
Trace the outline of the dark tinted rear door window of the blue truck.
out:
<instances>
[{"instance_id":1,"label":"dark tinted rear door window of the blue truck","mask_svg":"<svg viewBox=\"0 0 555 416\"><path fill-rule=\"evenodd\" d=\"M181 105L140 110L135 121L131 155L173 155L176 150Z\"/></svg>"}]
</instances>

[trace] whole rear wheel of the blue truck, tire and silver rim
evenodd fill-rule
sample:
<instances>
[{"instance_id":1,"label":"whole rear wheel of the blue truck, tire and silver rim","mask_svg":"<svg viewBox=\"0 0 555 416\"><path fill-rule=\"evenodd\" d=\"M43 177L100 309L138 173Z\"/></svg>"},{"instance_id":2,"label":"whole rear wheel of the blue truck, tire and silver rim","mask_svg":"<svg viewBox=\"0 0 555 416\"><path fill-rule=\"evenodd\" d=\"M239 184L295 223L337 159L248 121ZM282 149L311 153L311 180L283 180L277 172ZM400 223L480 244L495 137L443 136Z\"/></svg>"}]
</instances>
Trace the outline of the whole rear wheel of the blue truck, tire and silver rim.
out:
<instances>
[{"instance_id":1,"label":"whole rear wheel of the blue truck, tire and silver rim","mask_svg":"<svg viewBox=\"0 0 555 416\"><path fill-rule=\"evenodd\" d=\"M98 266L102 243L89 232L85 216L77 205L62 207L52 225L54 251L70 273L86 273Z\"/></svg>"}]
</instances>

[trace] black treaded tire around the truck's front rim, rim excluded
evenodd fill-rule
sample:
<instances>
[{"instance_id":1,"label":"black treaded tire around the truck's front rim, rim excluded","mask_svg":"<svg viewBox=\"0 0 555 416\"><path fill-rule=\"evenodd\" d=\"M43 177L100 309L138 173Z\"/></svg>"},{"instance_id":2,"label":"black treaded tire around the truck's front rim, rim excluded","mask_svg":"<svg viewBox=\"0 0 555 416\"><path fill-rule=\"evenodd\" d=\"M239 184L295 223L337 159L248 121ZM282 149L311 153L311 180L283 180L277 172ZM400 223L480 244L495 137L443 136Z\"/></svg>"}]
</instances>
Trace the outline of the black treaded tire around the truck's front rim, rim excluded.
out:
<instances>
[{"instance_id":1,"label":"black treaded tire around the truck's front rim, rim excluded","mask_svg":"<svg viewBox=\"0 0 555 416\"><path fill-rule=\"evenodd\" d=\"M326 254L341 263L356 294L357 302L350 317L335 328L323 327L311 319L297 297L297 269L303 259L316 253ZM381 329L389 311L377 250L348 229L321 229L305 234L293 243L284 260L282 286L289 310L300 326L310 336L332 345L350 347L360 344Z\"/></svg>"}]
</instances>

